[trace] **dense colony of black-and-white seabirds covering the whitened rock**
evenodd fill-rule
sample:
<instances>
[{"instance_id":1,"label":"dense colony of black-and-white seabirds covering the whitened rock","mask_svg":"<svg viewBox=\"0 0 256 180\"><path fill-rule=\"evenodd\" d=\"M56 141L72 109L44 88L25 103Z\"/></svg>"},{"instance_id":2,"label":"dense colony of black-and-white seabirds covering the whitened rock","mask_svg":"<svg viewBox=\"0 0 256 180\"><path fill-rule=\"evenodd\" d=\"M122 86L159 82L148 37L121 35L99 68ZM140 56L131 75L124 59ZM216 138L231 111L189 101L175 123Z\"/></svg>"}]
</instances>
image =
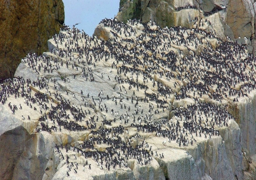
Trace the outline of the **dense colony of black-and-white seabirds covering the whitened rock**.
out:
<instances>
[{"instance_id":1,"label":"dense colony of black-and-white seabirds covering the whitened rock","mask_svg":"<svg viewBox=\"0 0 256 180\"><path fill-rule=\"evenodd\" d=\"M255 58L214 32L138 20L100 25L109 40L64 26L49 40L51 52L28 54L1 83L12 116L34 122L34 133L70 137L55 138L53 179L129 174L167 159L167 147L220 138L234 120L227 104L255 91Z\"/></svg>"}]
</instances>

